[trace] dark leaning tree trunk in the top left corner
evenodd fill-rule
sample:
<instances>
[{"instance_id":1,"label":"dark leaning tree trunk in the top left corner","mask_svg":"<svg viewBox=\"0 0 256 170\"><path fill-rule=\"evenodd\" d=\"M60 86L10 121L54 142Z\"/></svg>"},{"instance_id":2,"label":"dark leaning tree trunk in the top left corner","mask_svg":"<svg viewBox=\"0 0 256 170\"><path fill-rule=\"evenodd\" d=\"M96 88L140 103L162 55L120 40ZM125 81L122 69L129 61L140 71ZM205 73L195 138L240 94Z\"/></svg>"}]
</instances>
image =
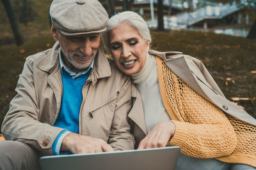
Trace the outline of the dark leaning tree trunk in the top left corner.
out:
<instances>
[{"instance_id":1,"label":"dark leaning tree trunk in the top left corner","mask_svg":"<svg viewBox=\"0 0 256 170\"><path fill-rule=\"evenodd\" d=\"M6 14L9 18L16 45L22 45L23 38L20 34L19 25L18 25L18 22L16 20L15 14L13 12L12 4L10 3L10 0L2 0L2 3L4 5L4 9L6 11Z\"/></svg>"}]
</instances>

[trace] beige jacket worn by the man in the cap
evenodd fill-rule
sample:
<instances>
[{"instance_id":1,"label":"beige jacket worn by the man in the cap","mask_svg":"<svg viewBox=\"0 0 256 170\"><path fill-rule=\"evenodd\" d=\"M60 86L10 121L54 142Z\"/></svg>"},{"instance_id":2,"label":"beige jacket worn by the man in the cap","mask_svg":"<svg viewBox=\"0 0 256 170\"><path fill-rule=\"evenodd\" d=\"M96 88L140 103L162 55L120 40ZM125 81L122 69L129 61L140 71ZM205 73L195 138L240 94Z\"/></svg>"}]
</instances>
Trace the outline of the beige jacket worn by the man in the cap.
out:
<instances>
[{"instance_id":1,"label":"beige jacket worn by the man in the cap","mask_svg":"<svg viewBox=\"0 0 256 170\"><path fill-rule=\"evenodd\" d=\"M40 155L52 154L52 143L63 131L52 126L63 94L59 50L56 42L51 49L26 59L17 83L17 96L12 99L1 128L5 139L27 143ZM140 102L136 93L130 78L120 73L99 49L92 73L83 87L79 133L104 139L114 150L133 149L134 138L127 114L138 113L134 108L131 110L132 104Z\"/></svg>"}]
</instances>

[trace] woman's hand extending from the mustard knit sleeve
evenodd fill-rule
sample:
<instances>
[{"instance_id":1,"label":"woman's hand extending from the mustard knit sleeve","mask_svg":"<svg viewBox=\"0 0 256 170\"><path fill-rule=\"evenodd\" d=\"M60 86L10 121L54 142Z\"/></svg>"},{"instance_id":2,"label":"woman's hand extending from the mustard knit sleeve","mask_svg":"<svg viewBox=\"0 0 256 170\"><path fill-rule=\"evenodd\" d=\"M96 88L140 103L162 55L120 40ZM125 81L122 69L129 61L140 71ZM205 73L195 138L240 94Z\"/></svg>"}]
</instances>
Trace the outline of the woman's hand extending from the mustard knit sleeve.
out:
<instances>
[{"instance_id":1,"label":"woman's hand extending from the mustard knit sleeve","mask_svg":"<svg viewBox=\"0 0 256 170\"><path fill-rule=\"evenodd\" d=\"M142 141L140 141L138 150L166 146L170 138L174 135L175 129L175 124L170 121L157 124L148 133L148 135Z\"/></svg>"}]
</instances>

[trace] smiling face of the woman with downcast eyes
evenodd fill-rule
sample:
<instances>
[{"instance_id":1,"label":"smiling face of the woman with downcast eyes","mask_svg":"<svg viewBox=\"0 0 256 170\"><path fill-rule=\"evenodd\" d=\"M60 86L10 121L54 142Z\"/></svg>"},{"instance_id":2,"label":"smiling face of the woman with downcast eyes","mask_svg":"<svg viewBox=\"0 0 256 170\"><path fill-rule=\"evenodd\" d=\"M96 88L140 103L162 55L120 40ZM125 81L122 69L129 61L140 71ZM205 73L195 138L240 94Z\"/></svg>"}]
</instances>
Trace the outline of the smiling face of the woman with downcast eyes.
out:
<instances>
[{"instance_id":1,"label":"smiling face of the woman with downcast eyes","mask_svg":"<svg viewBox=\"0 0 256 170\"><path fill-rule=\"evenodd\" d=\"M109 32L109 51L116 66L127 75L139 73L146 61L149 43L128 22Z\"/></svg>"}]
</instances>

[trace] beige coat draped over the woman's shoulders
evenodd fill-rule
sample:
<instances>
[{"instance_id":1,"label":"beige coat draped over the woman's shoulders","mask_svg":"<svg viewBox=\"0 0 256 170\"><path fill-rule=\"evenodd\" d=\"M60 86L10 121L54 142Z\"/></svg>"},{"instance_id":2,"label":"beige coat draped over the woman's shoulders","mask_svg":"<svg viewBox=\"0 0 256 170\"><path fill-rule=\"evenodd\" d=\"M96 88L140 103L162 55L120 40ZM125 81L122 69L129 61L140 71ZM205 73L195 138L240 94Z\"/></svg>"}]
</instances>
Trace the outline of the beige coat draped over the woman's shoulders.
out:
<instances>
[{"instance_id":1,"label":"beige coat draped over the woman's shoulders","mask_svg":"<svg viewBox=\"0 0 256 170\"><path fill-rule=\"evenodd\" d=\"M175 73L182 81L184 81L191 89L195 90L208 101L218 106L225 113L232 117L236 117L248 124L256 125L256 120L250 116L241 107L228 101L220 88L212 78L211 74L205 68L204 64L194 57L184 55L181 52L157 52L151 50L152 55L157 55L164 60L165 64ZM140 96L138 96L140 99ZM139 108L140 106L136 106ZM131 117L130 117L131 118ZM136 140L136 147L141 139L147 134L145 118L142 115L136 115L131 118L132 132Z\"/></svg>"}]
</instances>

